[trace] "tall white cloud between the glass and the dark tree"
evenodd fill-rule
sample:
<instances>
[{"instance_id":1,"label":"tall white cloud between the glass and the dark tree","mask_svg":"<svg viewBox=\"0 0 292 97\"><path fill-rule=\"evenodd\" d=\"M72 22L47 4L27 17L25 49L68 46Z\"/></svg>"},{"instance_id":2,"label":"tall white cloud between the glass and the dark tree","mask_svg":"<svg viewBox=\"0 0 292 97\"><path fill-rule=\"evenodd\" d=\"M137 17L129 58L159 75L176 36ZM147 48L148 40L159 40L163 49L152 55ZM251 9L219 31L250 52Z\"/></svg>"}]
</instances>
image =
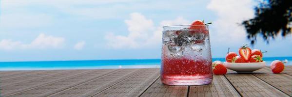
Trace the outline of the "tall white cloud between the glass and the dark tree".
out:
<instances>
[{"instance_id":1,"label":"tall white cloud between the glass and the dark tree","mask_svg":"<svg viewBox=\"0 0 292 97\"><path fill-rule=\"evenodd\" d=\"M240 24L253 17L252 0L211 0L207 8L218 16L212 24L211 41L226 44L246 41L247 34Z\"/></svg>"}]
</instances>

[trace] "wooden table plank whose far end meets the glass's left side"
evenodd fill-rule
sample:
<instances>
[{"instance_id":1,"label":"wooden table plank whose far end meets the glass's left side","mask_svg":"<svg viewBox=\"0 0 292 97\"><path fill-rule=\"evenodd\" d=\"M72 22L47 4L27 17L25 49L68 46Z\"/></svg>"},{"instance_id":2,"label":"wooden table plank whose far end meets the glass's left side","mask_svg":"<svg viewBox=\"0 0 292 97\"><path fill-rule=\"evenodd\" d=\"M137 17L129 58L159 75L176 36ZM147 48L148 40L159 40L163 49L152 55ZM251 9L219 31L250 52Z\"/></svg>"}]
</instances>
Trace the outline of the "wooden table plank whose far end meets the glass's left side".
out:
<instances>
[{"instance_id":1,"label":"wooden table plank whose far end meets the glass's left side","mask_svg":"<svg viewBox=\"0 0 292 97\"><path fill-rule=\"evenodd\" d=\"M94 97L138 97L159 77L158 68L141 69L135 75L98 93Z\"/></svg>"}]
</instances>

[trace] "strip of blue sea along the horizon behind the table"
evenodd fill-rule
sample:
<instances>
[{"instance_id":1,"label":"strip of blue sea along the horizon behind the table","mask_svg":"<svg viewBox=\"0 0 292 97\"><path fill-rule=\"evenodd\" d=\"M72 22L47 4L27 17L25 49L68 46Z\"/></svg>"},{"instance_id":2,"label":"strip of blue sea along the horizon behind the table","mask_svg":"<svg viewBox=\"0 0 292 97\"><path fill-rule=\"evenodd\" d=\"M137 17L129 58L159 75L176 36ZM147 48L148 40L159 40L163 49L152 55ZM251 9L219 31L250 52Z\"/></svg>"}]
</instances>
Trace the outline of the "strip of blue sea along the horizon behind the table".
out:
<instances>
[{"instance_id":1,"label":"strip of blue sea along the horizon behind the table","mask_svg":"<svg viewBox=\"0 0 292 97\"><path fill-rule=\"evenodd\" d=\"M213 58L212 61L225 61L225 58ZM266 65L274 60L288 60L292 57L267 57ZM86 60L86 61L38 61L38 62L0 62L0 70L56 70L56 69L113 69L113 68L159 68L160 59L136 60Z\"/></svg>"}]
</instances>

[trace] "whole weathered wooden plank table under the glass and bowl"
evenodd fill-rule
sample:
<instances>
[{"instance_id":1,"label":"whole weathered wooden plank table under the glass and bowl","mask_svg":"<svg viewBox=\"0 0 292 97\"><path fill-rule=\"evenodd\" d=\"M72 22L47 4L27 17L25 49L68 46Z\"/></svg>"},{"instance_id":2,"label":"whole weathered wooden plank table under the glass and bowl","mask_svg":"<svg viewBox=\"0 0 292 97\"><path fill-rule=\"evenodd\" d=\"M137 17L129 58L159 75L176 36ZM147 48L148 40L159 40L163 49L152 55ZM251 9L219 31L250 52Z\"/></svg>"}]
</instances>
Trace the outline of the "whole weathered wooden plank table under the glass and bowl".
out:
<instances>
[{"instance_id":1,"label":"whole weathered wooden plank table under the glass and bowl","mask_svg":"<svg viewBox=\"0 0 292 97\"><path fill-rule=\"evenodd\" d=\"M0 71L0 97L292 97L292 66L214 75L208 85L169 86L159 68Z\"/></svg>"}]
</instances>

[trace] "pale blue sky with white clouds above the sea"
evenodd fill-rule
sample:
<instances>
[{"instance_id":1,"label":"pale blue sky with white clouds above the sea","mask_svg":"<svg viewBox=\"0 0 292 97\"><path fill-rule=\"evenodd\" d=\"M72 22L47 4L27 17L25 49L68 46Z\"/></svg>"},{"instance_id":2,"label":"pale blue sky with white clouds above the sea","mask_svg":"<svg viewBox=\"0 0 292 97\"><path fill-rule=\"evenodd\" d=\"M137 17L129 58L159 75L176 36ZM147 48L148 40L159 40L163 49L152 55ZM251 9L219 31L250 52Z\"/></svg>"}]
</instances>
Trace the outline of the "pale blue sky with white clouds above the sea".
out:
<instances>
[{"instance_id":1,"label":"pale blue sky with white clouds above the sea","mask_svg":"<svg viewBox=\"0 0 292 97\"><path fill-rule=\"evenodd\" d=\"M159 59L162 26L212 22L213 58L250 41L254 0L0 0L0 62ZM264 57L292 56L292 35L259 35Z\"/></svg>"}]
</instances>

